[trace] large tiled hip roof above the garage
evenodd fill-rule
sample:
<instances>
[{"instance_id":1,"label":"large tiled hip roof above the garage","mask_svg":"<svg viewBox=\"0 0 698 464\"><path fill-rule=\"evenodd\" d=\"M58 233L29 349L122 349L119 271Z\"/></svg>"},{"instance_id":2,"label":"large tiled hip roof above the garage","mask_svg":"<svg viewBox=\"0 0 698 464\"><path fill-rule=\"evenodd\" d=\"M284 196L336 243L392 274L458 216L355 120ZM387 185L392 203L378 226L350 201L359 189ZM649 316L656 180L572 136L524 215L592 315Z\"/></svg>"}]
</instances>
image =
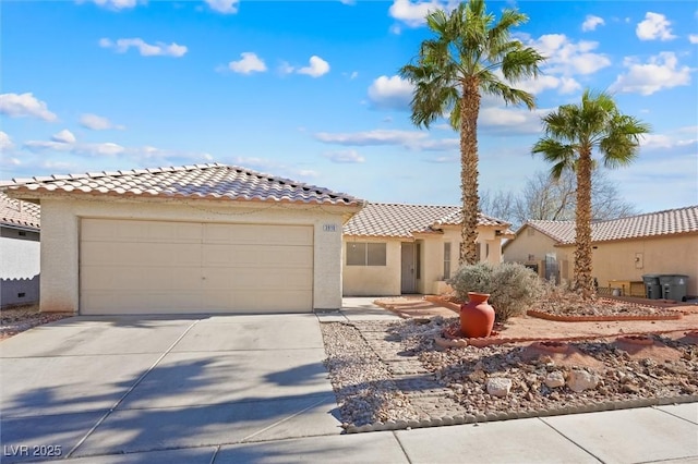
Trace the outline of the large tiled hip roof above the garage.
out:
<instances>
[{"instance_id":1,"label":"large tiled hip roof above the garage","mask_svg":"<svg viewBox=\"0 0 698 464\"><path fill-rule=\"evenodd\" d=\"M327 188L219 163L13 179L0 188L135 197L209 198L360 206L363 200Z\"/></svg>"}]
</instances>

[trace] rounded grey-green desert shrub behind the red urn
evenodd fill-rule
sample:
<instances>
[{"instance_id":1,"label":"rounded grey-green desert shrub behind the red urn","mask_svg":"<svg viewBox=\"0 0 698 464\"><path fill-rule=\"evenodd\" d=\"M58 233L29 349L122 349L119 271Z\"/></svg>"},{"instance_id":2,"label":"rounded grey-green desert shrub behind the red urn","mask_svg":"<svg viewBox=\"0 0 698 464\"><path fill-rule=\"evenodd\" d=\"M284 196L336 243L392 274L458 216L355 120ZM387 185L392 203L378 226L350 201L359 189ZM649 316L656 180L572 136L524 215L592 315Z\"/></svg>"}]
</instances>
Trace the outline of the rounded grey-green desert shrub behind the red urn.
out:
<instances>
[{"instance_id":1,"label":"rounded grey-green desert shrub behind the red urn","mask_svg":"<svg viewBox=\"0 0 698 464\"><path fill-rule=\"evenodd\" d=\"M448 284L456 292L456 297L464 302L468 301L468 292L489 293L497 322L525 314L542 294L538 274L517 262L462 266Z\"/></svg>"}]
</instances>

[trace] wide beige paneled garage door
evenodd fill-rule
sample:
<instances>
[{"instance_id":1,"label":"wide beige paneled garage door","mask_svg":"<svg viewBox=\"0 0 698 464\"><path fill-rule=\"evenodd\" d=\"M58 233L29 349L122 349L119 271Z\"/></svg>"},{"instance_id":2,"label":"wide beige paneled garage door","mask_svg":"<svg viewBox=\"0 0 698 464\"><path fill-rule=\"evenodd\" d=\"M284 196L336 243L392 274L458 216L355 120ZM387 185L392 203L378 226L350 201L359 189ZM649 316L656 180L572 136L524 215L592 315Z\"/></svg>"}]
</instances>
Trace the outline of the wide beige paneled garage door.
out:
<instances>
[{"instance_id":1,"label":"wide beige paneled garage door","mask_svg":"<svg viewBox=\"0 0 698 464\"><path fill-rule=\"evenodd\" d=\"M310 312L310 225L83 219L81 314Z\"/></svg>"}]
</instances>

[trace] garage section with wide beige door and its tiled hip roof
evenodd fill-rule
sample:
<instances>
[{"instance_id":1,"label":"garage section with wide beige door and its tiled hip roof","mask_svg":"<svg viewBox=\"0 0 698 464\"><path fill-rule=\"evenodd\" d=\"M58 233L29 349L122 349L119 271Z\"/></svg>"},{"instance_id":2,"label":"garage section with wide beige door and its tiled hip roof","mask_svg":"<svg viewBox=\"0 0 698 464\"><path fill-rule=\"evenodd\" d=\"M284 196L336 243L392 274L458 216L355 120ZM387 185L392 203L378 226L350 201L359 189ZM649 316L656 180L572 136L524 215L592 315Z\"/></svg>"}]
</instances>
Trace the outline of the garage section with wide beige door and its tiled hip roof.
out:
<instances>
[{"instance_id":1,"label":"garage section with wide beige door and its tiled hip roof","mask_svg":"<svg viewBox=\"0 0 698 464\"><path fill-rule=\"evenodd\" d=\"M363 200L224 164L3 182L41 206L41 310L308 313L341 306Z\"/></svg>"}]
</instances>

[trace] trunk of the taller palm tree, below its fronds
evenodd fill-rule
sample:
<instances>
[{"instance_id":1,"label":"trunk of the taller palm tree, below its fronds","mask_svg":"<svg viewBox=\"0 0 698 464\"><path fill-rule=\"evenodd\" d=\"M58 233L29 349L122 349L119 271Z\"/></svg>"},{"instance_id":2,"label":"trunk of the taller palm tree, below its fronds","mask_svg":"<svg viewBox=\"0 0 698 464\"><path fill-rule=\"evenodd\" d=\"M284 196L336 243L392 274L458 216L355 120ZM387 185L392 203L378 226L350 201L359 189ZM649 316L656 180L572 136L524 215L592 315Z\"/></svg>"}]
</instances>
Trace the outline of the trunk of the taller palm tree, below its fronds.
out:
<instances>
[{"instance_id":1,"label":"trunk of the taller palm tree, below its fronds","mask_svg":"<svg viewBox=\"0 0 698 464\"><path fill-rule=\"evenodd\" d=\"M459 264L473 265L480 260L477 255L478 239L478 114L480 91L477 77L468 77L462 83L460 100L460 193L462 200L462 228L460 232Z\"/></svg>"}]
</instances>

